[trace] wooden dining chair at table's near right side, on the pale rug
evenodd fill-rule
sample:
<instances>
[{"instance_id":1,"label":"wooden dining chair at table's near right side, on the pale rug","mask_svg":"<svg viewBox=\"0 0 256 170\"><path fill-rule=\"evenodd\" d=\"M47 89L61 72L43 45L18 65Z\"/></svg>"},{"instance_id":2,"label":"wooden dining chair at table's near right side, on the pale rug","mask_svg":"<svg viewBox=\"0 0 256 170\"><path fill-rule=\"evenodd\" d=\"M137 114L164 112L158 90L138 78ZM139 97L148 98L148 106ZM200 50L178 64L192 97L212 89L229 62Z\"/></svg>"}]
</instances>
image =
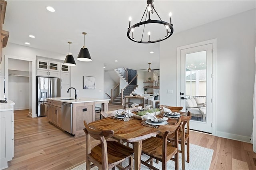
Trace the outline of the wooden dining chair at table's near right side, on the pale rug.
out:
<instances>
[{"instance_id":1,"label":"wooden dining chair at table's near right side, on the pale rug","mask_svg":"<svg viewBox=\"0 0 256 170\"><path fill-rule=\"evenodd\" d=\"M158 168L152 165L153 159L162 162L162 170L166 170L168 160L174 160L175 170L178 170L178 130L180 128L180 118L175 125L158 126L158 130L164 133L163 138L152 137L142 141L142 153L150 156L146 161L141 160L141 163L153 170ZM167 141L168 134L174 133L174 145ZM174 158L172 158L174 156ZM148 164L150 162L150 164Z\"/></svg>"}]
</instances>

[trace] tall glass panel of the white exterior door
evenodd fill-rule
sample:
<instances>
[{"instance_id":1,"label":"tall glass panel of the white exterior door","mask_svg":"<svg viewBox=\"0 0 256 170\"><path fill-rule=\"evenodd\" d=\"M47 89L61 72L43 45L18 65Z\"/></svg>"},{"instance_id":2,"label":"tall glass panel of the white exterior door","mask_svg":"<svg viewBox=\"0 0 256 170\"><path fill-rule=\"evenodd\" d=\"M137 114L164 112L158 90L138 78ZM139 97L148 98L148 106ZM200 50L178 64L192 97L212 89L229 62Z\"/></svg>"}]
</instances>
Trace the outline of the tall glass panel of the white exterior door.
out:
<instances>
[{"instance_id":1,"label":"tall glass panel of the white exterior door","mask_svg":"<svg viewBox=\"0 0 256 170\"><path fill-rule=\"evenodd\" d=\"M185 88L186 98L192 99L191 120L206 122L206 51L186 54Z\"/></svg>"}]
</instances>

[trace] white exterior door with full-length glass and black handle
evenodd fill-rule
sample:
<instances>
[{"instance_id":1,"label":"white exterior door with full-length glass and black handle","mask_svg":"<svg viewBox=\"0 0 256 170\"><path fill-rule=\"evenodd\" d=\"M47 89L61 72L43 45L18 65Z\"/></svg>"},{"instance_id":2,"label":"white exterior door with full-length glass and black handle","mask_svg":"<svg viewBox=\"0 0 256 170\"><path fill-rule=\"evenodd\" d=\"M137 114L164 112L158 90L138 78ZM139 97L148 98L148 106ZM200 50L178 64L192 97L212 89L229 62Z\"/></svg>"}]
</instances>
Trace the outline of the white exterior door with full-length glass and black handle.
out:
<instances>
[{"instance_id":1,"label":"white exterior door with full-length glass and black handle","mask_svg":"<svg viewBox=\"0 0 256 170\"><path fill-rule=\"evenodd\" d=\"M212 43L178 48L177 104L190 111L190 129L212 133Z\"/></svg>"}]
</instances>

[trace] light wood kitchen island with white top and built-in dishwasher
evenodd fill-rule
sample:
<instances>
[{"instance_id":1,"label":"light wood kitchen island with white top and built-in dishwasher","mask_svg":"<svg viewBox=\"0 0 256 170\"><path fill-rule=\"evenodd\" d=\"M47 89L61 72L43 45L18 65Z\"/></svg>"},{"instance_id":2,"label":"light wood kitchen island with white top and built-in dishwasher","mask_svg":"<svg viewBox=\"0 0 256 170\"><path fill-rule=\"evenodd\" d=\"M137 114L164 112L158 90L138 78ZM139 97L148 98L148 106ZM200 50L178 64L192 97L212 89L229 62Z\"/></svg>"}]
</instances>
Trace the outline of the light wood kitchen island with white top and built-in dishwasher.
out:
<instances>
[{"instance_id":1,"label":"light wood kitchen island with white top and built-in dishwasher","mask_svg":"<svg viewBox=\"0 0 256 170\"><path fill-rule=\"evenodd\" d=\"M90 97L47 98L48 121L66 132L80 136L84 134L84 120L87 123L95 121L95 105L101 104L102 111L108 111L110 99Z\"/></svg>"}]
</instances>

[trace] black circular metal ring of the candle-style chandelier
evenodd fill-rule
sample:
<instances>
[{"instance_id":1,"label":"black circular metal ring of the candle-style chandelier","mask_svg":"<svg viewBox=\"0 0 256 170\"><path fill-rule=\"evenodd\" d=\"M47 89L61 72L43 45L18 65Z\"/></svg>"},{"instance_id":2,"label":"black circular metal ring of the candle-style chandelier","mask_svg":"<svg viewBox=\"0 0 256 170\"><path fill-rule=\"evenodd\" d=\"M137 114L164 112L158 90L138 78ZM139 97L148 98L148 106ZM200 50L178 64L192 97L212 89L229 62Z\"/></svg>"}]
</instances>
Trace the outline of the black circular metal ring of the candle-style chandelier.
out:
<instances>
[{"instance_id":1,"label":"black circular metal ring of the candle-style chandelier","mask_svg":"<svg viewBox=\"0 0 256 170\"><path fill-rule=\"evenodd\" d=\"M168 36L165 36L164 38L162 39L159 39L159 40L154 40L154 41L140 41L140 40L135 40L134 38L132 38L130 36L130 32L132 31L132 29L138 27L138 26L141 26L141 25L144 25L144 24L163 24L164 26L168 26L170 28L170 31L168 31ZM130 28L128 28L128 31L127 31L127 36L130 40L134 41L134 42L138 42L138 43L155 43L155 42L160 42L160 41L163 41L167 38L169 38L171 35L173 34L173 26L172 24L168 23L168 22L164 22L164 21L161 21L161 20L147 20L147 21L142 21L142 22L139 22L137 24L134 24L133 26L131 26Z\"/></svg>"}]
</instances>

